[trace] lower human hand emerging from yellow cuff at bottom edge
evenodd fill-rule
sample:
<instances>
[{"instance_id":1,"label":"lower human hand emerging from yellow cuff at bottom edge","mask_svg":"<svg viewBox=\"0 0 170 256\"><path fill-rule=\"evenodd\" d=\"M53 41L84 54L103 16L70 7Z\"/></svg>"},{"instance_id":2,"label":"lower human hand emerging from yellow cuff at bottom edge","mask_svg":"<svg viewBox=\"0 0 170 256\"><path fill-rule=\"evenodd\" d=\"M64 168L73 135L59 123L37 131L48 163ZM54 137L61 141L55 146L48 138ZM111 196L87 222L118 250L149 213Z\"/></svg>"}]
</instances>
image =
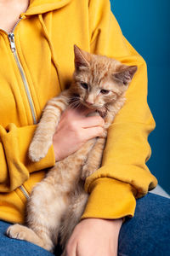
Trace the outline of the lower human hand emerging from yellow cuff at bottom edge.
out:
<instances>
[{"instance_id":1,"label":"lower human hand emerging from yellow cuff at bottom edge","mask_svg":"<svg viewBox=\"0 0 170 256\"><path fill-rule=\"evenodd\" d=\"M73 230L65 256L116 256L122 218L83 219Z\"/></svg>"}]
</instances>

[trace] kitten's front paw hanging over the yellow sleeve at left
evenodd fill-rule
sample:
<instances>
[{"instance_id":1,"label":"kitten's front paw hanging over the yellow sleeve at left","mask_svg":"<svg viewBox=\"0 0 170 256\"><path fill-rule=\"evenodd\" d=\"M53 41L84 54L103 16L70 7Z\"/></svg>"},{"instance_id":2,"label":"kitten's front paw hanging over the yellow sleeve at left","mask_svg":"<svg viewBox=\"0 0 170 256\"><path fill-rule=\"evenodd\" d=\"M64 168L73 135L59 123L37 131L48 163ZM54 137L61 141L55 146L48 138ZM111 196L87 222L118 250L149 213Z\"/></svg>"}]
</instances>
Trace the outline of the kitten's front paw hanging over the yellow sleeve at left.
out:
<instances>
[{"instance_id":1,"label":"kitten's front paw hanging over the yellow sleeve at left","mask_svg":"<svg viewBox=\"0 0 170 256\"><path fill-rule=\"evenodd\" d=\"M49 146L47 143L32 142L28 151L32 162L38 162L46 156Z\"/></svg>"}]
</instances>

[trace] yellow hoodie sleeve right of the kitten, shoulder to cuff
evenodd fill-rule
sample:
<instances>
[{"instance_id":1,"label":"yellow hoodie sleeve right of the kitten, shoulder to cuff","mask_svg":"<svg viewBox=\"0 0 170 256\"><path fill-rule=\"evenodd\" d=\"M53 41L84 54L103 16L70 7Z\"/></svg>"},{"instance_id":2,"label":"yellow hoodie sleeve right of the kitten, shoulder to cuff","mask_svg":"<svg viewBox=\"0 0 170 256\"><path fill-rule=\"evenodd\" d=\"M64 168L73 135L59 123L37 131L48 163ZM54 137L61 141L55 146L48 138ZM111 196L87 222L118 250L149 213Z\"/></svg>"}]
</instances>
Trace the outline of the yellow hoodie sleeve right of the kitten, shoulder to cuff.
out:
<instances>
[{"instance_id":1,"label":"yellow hoodie sleeve right of the kitten, shoulder to cuff","mask_svg":"<svg viewBox=\"0 0 170 256\"><path fill-rule=\"evenodd\" d=\"M133 217L136 198L156 187L145 162L150 158L148 136L155 121L147 104L147 70L143 58L123 37L109 0L89 1L91 52L107 55L127 65L137 65L127 102L111 125L103 163L87 178L90 194L82 218Z\"/></svg>"}]
</instances>

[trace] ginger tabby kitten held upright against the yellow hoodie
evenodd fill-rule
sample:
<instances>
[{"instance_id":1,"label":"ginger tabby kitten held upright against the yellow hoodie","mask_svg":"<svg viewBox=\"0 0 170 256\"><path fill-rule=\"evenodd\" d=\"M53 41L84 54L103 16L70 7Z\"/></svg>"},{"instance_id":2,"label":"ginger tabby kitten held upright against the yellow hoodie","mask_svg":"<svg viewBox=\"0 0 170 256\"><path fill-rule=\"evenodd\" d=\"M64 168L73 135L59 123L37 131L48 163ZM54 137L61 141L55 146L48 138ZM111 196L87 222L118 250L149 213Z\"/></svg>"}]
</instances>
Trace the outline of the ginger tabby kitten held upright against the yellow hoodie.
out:
<instances>
[{"instance_id":1,"label":"ginger tabby kitten held upright against the yellow hoodie","mask_svg":"<svg viewBox=\"0 0 170 256\"><path fill-rule=\"evenodd\" d=\"M53 252L60 236L64 248L80 221L88 201L83 185L101 165L107 129L125 102L128 84L136 66L102 55L92 55L76 45L75 72L68 90L48 101L29 148L32 161L42 159L52 145L56 126L65 108L84 105L105 119L105 132L85 143L64 160L56 162L41 183L32 189L27 203L26 226L11 225L7 235L31 241ZM65 255L65 251L63 253Z\"/></svg>"}]
</instances>

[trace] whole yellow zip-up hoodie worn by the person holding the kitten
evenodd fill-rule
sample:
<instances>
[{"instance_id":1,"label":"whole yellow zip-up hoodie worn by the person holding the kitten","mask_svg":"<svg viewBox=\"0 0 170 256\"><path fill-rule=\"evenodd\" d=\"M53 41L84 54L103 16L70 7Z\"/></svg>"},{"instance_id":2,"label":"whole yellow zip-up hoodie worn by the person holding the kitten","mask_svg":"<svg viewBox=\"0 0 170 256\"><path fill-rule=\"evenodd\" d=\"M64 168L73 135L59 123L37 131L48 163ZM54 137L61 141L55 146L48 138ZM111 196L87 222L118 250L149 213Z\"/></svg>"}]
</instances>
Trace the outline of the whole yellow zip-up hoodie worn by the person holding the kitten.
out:
<instances>
[{"instance_id":1,"label":"whole yellow zip-up hoodie worn by the person holding the kitten","mask_svg":"<svg viewBox=\"0 0 170 256\"><path fill-rule=\"evenodd\" d=\"M23 223L32 186L54 166L54 149L31 163L27 149L46 102L71 83L73 44L138 65L127 102L109 130L102 167L87 178L82 218L133 216L135 198L156 186L145 161L155 127L146 65L123 38L109 0L31 0L13 33L0 30L0 218Z\"/></svg>"}]
</instances>

